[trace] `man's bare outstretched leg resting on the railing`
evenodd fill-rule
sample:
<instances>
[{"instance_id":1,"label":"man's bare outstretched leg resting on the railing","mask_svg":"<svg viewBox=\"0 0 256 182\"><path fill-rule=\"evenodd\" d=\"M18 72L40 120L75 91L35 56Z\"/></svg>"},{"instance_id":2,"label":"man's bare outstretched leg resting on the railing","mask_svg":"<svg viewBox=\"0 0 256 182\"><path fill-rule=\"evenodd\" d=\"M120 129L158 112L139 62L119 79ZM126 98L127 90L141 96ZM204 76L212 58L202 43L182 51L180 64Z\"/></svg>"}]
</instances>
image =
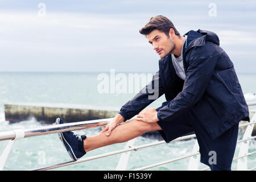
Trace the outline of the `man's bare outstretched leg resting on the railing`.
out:
<instances>
[{"instance_id":1,"label":"man's bare outstretched leg resting on the railing","mask_svg":"<svg viewBox=\"0 0 256 182\"><path fill-rule=\"evenodd\" d=\"M133 138L154 130L162 130L158 123L147 123L134 119L131 122L124 123L115 127L109 136L106 136L106 131L94 137L87 137L84 140L84 150L89 152L96 148L108 146L114 143L127 142Z\"/></svg>"}]
</instances>

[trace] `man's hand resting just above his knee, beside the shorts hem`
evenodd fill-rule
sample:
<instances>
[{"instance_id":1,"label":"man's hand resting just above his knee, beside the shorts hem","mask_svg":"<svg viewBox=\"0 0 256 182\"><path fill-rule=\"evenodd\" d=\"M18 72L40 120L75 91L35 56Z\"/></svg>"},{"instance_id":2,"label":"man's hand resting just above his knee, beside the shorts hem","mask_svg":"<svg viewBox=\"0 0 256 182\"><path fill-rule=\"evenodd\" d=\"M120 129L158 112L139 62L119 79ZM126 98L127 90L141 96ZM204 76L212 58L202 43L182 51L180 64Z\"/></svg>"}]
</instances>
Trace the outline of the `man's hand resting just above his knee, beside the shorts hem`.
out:
<instances>
[{"instance_id":1,"label":"man's hand resting just above his knee, beside the shorts hem","mask_svg":"<svg viewBox=\"0 0 256 182\"><path fill-rule=\"evenodd\" d=\"M147 123L154 123L159 121L158 112L154 108L144 109L137 115L136 119L138 121L144 121Z\"/></svg>"}]
</instances>

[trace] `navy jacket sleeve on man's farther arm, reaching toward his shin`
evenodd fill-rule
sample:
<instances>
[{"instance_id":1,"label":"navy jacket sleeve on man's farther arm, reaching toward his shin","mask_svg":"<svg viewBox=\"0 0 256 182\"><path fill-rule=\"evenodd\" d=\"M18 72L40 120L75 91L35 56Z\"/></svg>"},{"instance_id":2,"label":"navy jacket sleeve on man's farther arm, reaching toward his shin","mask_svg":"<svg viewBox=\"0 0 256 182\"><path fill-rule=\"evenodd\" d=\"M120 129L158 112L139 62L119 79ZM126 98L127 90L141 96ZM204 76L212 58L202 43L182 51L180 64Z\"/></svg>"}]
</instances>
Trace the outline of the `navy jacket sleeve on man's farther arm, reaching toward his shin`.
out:
<instances>
[{"instance_id":1,"label":"navy jacket sleeve on man's farther arm, reaching toward his shin","mask_svg":"<svg viewBox=\"0 0 256 182\"><path fill-rule=\"evenodd\" d=\"M154 74L152 80L139 91L138 94L121 107L119 114L121 114L126 121L162 96L163 93L163 84L158 71Z\"/></svg>"}]
</instances>

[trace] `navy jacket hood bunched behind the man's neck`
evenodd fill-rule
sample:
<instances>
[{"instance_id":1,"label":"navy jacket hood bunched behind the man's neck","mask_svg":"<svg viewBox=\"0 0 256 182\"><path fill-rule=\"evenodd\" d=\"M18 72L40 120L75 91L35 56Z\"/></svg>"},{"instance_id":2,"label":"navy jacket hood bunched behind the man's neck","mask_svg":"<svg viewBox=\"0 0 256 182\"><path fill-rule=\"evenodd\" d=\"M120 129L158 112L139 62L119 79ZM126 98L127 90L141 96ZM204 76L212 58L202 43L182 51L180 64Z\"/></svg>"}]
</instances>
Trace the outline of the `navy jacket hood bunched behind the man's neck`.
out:
<instances>
[{"instance_id":1,"label":"navy jacket hood bunched behind the man's neck","mask_svg":"<svg viewBox=\"0 0 256 182\"><path fill-rule=\"evenodd\" d=\"M189 31L187 34L187 49L194 46L203 46L206 41L212 42L220 46L220 39L218 39L218 35L214 32L207 30L197 30L197 31Z\"/></svg>"}]
</instances>

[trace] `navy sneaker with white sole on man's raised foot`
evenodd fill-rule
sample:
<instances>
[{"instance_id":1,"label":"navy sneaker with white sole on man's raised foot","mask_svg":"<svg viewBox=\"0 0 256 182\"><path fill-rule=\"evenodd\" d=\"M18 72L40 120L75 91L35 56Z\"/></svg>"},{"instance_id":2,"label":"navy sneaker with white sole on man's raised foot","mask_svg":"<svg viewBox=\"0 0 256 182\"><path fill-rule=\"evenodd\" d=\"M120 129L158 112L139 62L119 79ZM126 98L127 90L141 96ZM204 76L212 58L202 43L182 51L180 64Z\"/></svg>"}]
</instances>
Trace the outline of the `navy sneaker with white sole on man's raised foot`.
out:
<instances>
[{"instance_id":1,"label":"navy sneaker with white sole on man's raised foot","mask_svg":"<svg viewBox=\"0 0 256 182\"><path fill-rule=\"evenodd\" d=\"M63 124L63 119L57 118L56 125ZM68 151L71 158L76 161L86 154L84 150L84 139L86 135L74 134L72 131L58 133L61 142Z\"/></svg>"}]
</instances>

